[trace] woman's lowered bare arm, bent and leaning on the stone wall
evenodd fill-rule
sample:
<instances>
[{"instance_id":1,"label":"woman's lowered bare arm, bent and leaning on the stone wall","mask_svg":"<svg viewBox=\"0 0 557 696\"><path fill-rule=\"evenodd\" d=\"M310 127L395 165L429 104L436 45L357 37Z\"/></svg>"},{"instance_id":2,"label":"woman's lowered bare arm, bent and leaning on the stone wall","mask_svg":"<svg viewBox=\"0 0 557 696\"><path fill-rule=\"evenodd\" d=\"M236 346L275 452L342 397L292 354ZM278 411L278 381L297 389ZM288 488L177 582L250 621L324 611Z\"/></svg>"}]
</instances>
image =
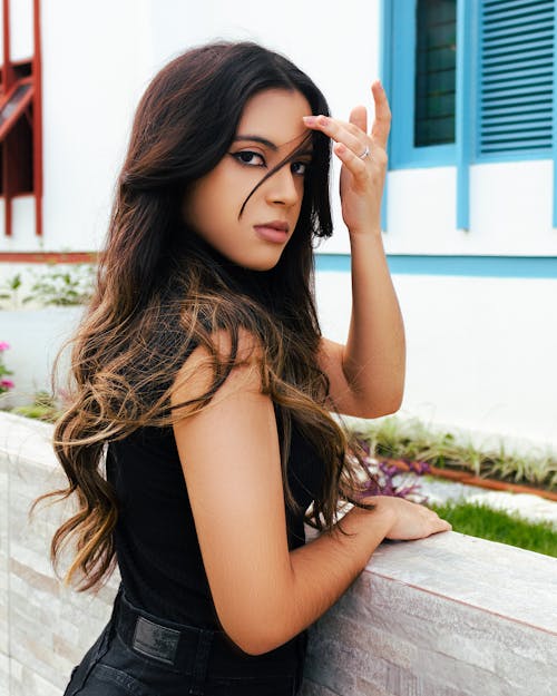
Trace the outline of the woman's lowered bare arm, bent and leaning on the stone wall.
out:
<instances>
[{"instance_id":1,"label":"woman's lowered bare arm, bent and leaning on the stone wall","mask_svg":"<svg viewBox=\"0 0 557 696\"><path fill-rule=\"evenodd\" d=\"M175 403L204 391L204 359L196 351L187 361ZM397 525L404 538L447 529L421 506L374 499L377 510L343 519L354 536L333 530L290 552L274 410L255 367L234 370L209 408L174 431L216 611L246 653L266 653L315 621Z\"/></svg>"}]
</instances>

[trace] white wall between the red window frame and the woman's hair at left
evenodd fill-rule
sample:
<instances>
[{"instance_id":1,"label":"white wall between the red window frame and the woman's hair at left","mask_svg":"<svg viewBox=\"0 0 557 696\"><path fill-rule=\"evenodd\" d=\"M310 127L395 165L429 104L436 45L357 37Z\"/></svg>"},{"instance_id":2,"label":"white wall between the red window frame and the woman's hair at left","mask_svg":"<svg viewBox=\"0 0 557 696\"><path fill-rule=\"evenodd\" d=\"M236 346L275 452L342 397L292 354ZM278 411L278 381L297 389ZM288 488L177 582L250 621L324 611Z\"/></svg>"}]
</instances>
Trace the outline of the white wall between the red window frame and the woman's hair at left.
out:
<instances>
[{"instance_id":1,"label":"white wall between the red window frame and the woman's hair at left","mask_svg":"<svg viewBox=\"0 0 557 696\"><path fill-rule=\"evenodd\" d=\"M146 11L144 0L42 1L45 249L101 244L148 78Z\"/></svg>"}]
</instances>

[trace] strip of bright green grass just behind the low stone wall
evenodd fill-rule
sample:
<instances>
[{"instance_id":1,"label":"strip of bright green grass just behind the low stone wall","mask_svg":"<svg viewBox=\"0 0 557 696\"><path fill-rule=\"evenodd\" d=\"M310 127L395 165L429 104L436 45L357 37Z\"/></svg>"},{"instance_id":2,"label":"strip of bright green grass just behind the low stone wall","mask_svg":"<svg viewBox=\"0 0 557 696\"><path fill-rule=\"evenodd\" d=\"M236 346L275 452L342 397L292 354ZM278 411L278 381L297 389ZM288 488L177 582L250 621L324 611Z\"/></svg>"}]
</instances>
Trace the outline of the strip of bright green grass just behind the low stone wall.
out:
<instances>
[{"instance_id":1,"label":"strip of bright green grass just behind the low stone wall","mask_svg":"<svg viewBox=\"0 0 557 696\"><path fill-rule=\"evenodd\" d=\"M452 525L452 531L557 558L557 530L550 522L530 522L486 504L449 501L428 504Z\"/></svg>"}]
</instances>

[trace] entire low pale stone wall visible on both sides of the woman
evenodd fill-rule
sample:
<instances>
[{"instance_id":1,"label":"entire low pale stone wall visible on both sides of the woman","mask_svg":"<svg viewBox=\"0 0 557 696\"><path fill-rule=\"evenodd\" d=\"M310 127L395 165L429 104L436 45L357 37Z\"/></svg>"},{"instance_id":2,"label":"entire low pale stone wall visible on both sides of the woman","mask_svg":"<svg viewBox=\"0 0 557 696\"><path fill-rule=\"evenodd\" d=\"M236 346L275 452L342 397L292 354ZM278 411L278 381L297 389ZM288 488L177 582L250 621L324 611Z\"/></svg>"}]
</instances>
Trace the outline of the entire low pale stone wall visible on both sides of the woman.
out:
<instances>
[{"instance_id":1,"label":"entire low pale stone wall visible on both sides of the woman","mask_svg":"<svg viewBox=\"0 0 557 696\"><path fill-rule=\"evenodd\" d=\"M51 429L0 414L0 693L60 696L105 625L97 596L63 589L48 560L62 482ZM447 532L385 542L310 631L303 696L555 696L557 559Z\"/></svg>"}]
</instances>

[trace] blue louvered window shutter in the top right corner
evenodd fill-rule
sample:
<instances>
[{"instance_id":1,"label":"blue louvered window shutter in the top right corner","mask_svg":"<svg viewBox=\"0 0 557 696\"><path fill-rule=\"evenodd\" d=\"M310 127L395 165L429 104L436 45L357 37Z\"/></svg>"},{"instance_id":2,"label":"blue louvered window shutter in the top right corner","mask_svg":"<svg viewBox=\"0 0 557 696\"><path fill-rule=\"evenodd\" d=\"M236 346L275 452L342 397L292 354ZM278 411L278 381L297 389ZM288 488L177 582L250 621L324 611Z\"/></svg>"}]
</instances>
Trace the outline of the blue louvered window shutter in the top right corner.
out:
<instances>
[{"instance_id":1,"label":"blue louvered window shutter in the top right corner","mask_svg":"<svg viewBox=\"0 0 557 696\"><path fill-rule=\"evenodd\" d=\"M555 0L483 0L478 156L550 153Z\"/></svg>"}]
</instances>

